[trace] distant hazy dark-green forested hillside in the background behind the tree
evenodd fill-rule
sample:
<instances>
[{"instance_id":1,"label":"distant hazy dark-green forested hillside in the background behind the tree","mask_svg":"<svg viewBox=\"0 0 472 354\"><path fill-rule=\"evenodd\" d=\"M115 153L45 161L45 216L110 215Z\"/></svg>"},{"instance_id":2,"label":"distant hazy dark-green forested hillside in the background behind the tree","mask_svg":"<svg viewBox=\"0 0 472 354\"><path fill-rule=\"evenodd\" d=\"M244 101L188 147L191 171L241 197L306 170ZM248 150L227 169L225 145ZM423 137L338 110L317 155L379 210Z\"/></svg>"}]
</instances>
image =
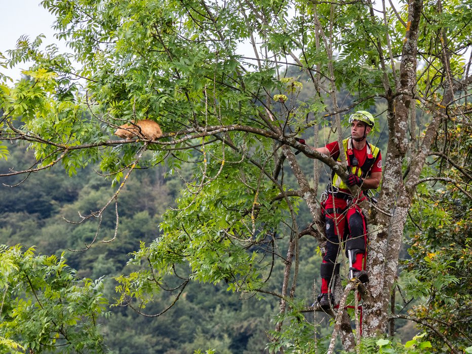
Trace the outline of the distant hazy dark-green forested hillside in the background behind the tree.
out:
<instances>
[{"instance_id":1,"label":"distant hazy dark-green forested hillside in the background behind the tree","mask_svg":"<svg viewBox=\"0 0 472 354\"><path fill-rule=\"evenodd\" d=\"M30 152L14 145L9 148L8 160L0 162L1 173L12 166L25 169L33 164ZM111 306L117 297L113 278L133 270L133 266L127 266L129 253L137 250L140 242L150 243L159 237L161 215L167 208L175 207L182 182L178 177L168 176L165 167L136 171L120 194L116 239L97 242L84 251L95 238L97 221L75 225L66 219L77 221L78 213L100 208L113 194L116 188L97 174L97 168L90 166L77 171L74 178L53 168L19 185L23 178L4 178L0 186L0 244L19 244L25 249L34 246L38 255L60 256L65 252L67 265L76 270L78 277L103 279L104 294ZM306 213L301 213L300 219L306 217ZM100 226L100 240L110 240L114 227L114 215L110 212ZM300 274L301 296L313 301L312 282L318 276L321 256L312 240L307 240L301 257L305 264ZM280 279L274 280L273 291L279 282ZM163 293L146 307L146 313L159 313L171 301L172 297ZM191 284L177 304L159 318L146 318L126 307L109 307L112 315L102 321L104 344L114 353L176 354L208 348L218 353L263 353L267 352L267 332L272 330L276 305L273 301L234 294L227 291L226 285ZM322 319L320 315L319 320ZM321 333L328 335L327 330Z\"/></svg>"}]
</instances>

